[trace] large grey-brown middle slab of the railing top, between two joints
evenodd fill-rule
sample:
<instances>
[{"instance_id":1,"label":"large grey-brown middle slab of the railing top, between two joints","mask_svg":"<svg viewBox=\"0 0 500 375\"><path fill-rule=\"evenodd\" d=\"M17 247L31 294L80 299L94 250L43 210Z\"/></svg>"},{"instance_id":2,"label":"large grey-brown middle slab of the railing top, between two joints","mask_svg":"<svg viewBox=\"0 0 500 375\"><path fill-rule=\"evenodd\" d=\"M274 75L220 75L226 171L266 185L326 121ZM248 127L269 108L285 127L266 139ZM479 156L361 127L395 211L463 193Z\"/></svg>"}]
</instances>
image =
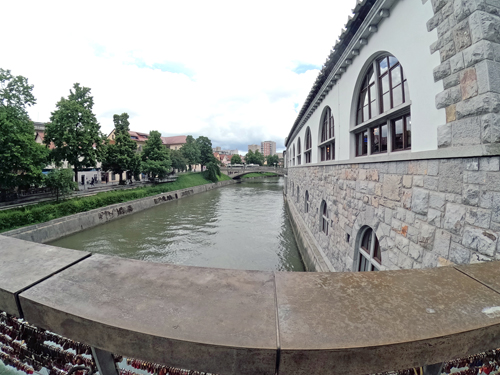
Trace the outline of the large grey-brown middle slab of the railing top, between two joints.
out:
<instances>
[{"instance_id":1,"label":"large grey-brown middle slab of the railing top, between two joints","mask_svg":"<svg viewBox=\"0 0 500 375\"><path fill-rule=\"evenodd\" d=\"M272 272L93 255L20 302L31 324L120 355L220 374L275 373Z\"/></svg>"}]
</instances>

